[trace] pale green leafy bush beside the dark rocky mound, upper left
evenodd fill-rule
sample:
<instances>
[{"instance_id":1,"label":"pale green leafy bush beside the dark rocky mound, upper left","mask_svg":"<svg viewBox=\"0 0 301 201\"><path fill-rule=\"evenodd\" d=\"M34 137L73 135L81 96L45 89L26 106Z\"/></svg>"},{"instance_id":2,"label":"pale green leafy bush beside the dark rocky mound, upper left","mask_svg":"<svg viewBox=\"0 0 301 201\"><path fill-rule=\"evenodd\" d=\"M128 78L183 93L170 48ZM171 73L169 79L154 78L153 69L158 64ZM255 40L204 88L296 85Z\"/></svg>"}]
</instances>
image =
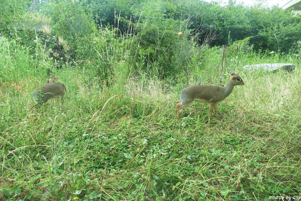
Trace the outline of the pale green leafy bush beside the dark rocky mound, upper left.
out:
<instances>
[{"instance_id":1,"label":"pale green leafy bush beside the dark rocky mound, upper left","mask_svg":"<svg viewBox=\"0 0 301 201\"><path fill-rule=\"evenodd\" d=\"M78 1L52 1L45 8L51 17L53 34L68 41L75 57L86 59L92 50L92 34L96 30L91 10Z\"/></svg>"}]
</instances>

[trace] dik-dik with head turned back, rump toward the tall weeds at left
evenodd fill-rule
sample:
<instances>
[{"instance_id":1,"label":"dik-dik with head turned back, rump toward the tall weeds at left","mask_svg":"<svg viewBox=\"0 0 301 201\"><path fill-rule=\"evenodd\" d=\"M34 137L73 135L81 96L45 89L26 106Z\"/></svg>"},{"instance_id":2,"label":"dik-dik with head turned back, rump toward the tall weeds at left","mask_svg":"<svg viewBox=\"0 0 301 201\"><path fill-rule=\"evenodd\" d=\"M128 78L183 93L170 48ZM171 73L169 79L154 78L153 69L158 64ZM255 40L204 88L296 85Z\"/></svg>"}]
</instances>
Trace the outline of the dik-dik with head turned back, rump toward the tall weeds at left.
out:
<instances>
[{"instance_id":1,"label":"dik-dik with head turned back, rump toward the tall weeds at left","mask_svg":"<svg viewBox=\"0 0 301 201\"><path fill-rule=\"evenodd\" d=\"M33 91L33 99L36 101L36 105L43 104L47 102L49 99L61 99L61 103L63 106L63 96L66 92L66 87L62 83L58 83L55 80L58 76L52 76L45 85L42 85L39 88L36 88Z\"/></svg>"}]
</instances>

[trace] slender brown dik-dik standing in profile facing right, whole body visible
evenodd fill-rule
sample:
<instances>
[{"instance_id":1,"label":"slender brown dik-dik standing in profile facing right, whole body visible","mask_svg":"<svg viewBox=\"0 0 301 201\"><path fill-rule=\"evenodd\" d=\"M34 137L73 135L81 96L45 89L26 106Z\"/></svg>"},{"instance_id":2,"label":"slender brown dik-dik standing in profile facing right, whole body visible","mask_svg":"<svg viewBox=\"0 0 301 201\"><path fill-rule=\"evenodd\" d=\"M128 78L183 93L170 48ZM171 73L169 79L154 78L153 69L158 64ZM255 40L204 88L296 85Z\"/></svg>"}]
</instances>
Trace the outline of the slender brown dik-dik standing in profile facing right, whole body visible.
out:
<instances>
[{"instance_id":1,"label":"slender brown dik-dik standing in profile facing right, whole body visible","mask_svg":"<svg viewBox=\"0 0 301 201\"><path fill-rule=\"evenodd\" d=\"M244 81L238 74L232 72L227 86L193 85L184 88L180 94L181 101L178 101L175 105L176 121L178 121L178 111L191 105L194 101L209 103L209 119L211 118L213 108L215 109L215 116L217 118L217 104L229 96L236 85L244 85Z\"/></svg>"}]
</instances>

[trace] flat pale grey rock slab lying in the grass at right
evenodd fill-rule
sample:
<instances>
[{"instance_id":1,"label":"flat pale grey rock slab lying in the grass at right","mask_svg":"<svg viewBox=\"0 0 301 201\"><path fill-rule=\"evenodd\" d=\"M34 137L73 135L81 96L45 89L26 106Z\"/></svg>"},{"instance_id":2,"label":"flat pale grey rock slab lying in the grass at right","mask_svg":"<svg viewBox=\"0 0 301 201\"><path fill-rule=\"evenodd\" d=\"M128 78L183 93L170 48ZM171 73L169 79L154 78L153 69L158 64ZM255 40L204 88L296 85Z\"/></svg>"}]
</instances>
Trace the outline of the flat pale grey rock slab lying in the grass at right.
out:
<instances>
[{"instance_id":1,"label":"flat pale grey rock slab lying in the grass at right","mask_svg":"<svg viewBox=\"0 0 301 201\"><path fill-rule=\"evenodd\" d=\"M278 69L285 70L285 71L293 71L296 66L294 64L254 64L254 65L247 65L243 67L247 70L259 70L262 69L264 71L276 71Z\"/></svg>"}]
</instances>

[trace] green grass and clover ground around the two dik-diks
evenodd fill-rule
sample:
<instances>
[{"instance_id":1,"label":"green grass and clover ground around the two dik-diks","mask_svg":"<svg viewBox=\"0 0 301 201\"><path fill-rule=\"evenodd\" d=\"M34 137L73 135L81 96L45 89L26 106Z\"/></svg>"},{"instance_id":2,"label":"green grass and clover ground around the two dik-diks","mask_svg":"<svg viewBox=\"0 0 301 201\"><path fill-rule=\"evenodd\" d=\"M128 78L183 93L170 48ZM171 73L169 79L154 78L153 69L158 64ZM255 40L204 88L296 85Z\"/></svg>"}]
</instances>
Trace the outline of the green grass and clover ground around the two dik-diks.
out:
<instances>
[{"instance_id":1,"label":"green grass and clover ground around the two dik-diks","mask_svg":"<svg viewBox=\"0 0 301 201\"><path fill-rule=\"evenodd\" d=\"M124 79L120 71L107 87L73 68L53 70L67 87L64 107L50 100L34 110L32 91L48 77L44 71L28 72L27 65L47 61L33 58L25 64L1 57L2 64L11 61L27 74L16 70L0 82L0 197L268 200L300 195L300 60L231 56L226 70L239 71L245 85L219 105L219 117L208 122L209 106L195 103L175 122L183 87L221 85L219 50L207 51L201 67L169 81L144 74ZM292 73L240 68L271 61L297 67ZM223 83L227 80L224 72Z\"/></svg>"}]
</instances>

